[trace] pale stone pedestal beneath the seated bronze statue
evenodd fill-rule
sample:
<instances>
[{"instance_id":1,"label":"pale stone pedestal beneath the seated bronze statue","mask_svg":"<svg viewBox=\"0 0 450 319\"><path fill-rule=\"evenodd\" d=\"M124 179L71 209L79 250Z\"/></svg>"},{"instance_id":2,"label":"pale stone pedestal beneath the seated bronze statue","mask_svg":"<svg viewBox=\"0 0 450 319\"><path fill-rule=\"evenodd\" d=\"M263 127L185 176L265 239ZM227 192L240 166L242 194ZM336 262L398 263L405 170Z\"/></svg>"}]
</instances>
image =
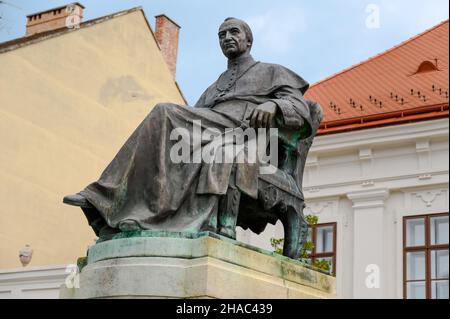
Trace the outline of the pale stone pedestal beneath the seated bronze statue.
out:
<instances>
[{"instance_id":1,"label":"pale stone pedestal beneath the seated bronze statue","mask_svg":"<svg viewBox=\"0 0 450 319\"><path fill-rule=\"evenodd\" d=\"M174 238L177 237L177 238ZM334 298L335 278L213 233L121 235L97 243L61 298Z\"/></svg>"}]
</instances>

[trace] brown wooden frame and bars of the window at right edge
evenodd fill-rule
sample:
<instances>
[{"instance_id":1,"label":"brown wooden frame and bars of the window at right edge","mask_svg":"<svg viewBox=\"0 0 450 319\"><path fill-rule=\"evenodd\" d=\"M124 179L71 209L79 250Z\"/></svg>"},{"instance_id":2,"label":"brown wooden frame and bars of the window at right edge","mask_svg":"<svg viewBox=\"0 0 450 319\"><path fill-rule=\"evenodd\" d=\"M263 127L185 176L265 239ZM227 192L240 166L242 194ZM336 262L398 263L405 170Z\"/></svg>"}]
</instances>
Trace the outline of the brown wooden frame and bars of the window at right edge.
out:
<instances>
[{"instance_id":1,"label":"brown wooden frame and bars of the window at right edge","mask_svg":"<svg viewBox=\"0 0 450 319\"><path fill-rule=\"evenodd\" d=\"M431 245L431 219L441 216L449 217L449 213L421 214L412 216L403 216L403 299L408 299L408 283L409 282L425 282L425 298L432 298L432 282L431 278L431 253L438 250L449 250L449 244ZM424 219L424 239L422 246L407 246L407 228L406 224L411 219ZM407 280L408 262L407 254L410 252L425 252L425 280ZM449 278L440 278L438 280L449 280ZM438 281L434 280L434 281Z\"/></svg>"}]
</instances>

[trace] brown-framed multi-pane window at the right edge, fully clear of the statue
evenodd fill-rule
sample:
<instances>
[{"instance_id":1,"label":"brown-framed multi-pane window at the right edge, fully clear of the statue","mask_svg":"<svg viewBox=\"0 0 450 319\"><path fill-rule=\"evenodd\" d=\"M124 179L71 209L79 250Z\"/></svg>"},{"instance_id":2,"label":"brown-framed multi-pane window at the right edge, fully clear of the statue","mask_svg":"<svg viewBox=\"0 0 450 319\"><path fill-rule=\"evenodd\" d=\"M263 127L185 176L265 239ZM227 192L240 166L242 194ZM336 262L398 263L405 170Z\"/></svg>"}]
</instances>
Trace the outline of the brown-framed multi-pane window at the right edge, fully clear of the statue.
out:
<instances>
[{"instance_id":1,"label":"brown-framed multi-pane window at the right edge, fully clear of the statue","mask_svg":"<svg viewBox=\"0 0 450 319\"><path fill-rule=\"evenodd\" d=\"M448 213L403 218L403 296L448 299Z\"/></svg>"}]
</instances>

